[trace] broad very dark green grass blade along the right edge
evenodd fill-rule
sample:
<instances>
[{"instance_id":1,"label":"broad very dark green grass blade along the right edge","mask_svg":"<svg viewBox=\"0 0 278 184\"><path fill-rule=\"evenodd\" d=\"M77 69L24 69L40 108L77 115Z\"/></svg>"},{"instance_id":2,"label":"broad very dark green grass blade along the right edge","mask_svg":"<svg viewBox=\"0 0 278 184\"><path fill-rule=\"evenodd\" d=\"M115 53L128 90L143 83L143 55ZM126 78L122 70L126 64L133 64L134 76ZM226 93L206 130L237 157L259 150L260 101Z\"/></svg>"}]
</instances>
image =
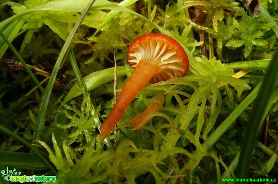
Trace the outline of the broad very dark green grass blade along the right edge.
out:
<instances>
[{"instance_id":1,"label":"broad very dark green grass blade along the right edge","mask_svg":"<svg viewBox=\"0 0 278 184\"><path fill-rule=\"evenodd\" d=\"M248 177L249 165L251 163L251 156L256 142L257 131L260 126L262 115L264 114L267 106L268 97L274 88L275 77L278 71L278 50L275 51L273 59L268 67L267 73L262 83L259 97L254 104L254 108L249 116L247 123L241 154L239 157L239 166L237 177Z\"/></svg>"}]
</instances>

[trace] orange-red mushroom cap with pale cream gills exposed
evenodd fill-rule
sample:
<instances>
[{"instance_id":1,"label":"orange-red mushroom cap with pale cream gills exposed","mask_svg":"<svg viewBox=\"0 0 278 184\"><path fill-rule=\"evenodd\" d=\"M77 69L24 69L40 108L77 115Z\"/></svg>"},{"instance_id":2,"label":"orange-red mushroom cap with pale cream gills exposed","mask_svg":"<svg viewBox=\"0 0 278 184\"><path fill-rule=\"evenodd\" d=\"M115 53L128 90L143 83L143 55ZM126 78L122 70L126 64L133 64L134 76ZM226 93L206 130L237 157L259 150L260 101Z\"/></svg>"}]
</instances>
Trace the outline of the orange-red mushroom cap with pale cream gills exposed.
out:
<instances>
[{"instance_id":1,"label":"orange-red mushroom cap with pale cream gills exposed","mask_svg":"<svg viewBox=\"0 0 278 184\"><path fill-rule=\"evenodd\" d=\"M140 61L160 61L157 62L160 70L149 80L153 83L184 76L189 70L187 54L179 42L170 36L159 33L145 34L130 44L129 65L135 68Z\"/></svg>"}]
</instances>

